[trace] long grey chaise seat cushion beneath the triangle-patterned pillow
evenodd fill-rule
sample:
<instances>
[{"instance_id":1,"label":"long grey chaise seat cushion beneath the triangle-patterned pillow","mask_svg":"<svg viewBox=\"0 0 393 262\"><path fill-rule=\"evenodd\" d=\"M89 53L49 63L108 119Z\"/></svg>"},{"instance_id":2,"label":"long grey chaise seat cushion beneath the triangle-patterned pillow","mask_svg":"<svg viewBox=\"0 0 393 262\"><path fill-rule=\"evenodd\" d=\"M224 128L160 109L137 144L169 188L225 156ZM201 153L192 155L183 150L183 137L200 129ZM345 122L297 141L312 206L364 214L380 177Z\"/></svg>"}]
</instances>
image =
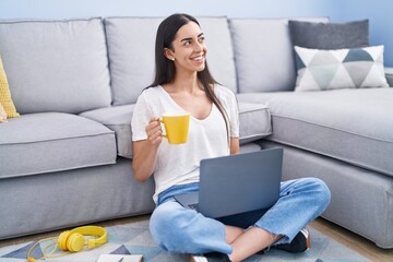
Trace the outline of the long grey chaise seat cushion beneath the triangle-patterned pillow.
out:
<instances>
[{"instance_id":1,"label":"long grey chaise seat cushion beneath the triangle-patterned pillow","mask_svg":"<svg viewBox=\"0 0 393 262\"><path fill-rule=\"evenodd\" d=\"M265 103L267 139L393 176L393 88L241 94Z\"/></svg>"}]
</instances>

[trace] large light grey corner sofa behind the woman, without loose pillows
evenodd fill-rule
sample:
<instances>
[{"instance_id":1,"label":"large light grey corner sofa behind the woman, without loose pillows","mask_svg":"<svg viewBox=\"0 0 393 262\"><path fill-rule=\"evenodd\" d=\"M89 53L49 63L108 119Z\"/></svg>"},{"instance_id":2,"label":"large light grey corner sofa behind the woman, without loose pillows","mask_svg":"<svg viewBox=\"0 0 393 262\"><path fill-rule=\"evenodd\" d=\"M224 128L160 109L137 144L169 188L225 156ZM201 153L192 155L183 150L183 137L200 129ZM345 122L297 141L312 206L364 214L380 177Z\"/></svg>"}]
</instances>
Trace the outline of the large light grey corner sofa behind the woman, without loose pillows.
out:
<instances>
[{"instance_id":1,"label":"large light grey corner sofa behind the woman, without loose pillows","mask_svg":"<svg viewBox=\"0 0 393 262\"><path fill-rule=\"evenodd\" d=\"M133 179L130 121L152 82L160 21L0 22L22 115L0 124L0 239L154 209L153 180ZM326 219L392 248L393 90L293 92L288 19L199 21L213 75L238 94L241 150L284 147L284 179L331 188Z\"/></svg>"}]
</instances>

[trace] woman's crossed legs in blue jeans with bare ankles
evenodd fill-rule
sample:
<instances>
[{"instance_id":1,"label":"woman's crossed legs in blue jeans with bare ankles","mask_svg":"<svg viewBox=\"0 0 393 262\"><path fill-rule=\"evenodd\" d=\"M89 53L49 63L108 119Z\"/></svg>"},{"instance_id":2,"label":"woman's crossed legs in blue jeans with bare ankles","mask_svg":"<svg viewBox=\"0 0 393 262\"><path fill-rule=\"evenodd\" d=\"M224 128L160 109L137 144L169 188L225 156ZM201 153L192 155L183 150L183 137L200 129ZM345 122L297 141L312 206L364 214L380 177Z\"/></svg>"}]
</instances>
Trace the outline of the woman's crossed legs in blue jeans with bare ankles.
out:
<instances>
[{"instance_id":1,"label":"woman's crossed legs in blue jeans with bare ankles","mask_svg":"<svg viewBox=\"0 0 393 262\"><path fill-rule=\"evenodd\" d=\"M241 261L272 243L286 243L330 202L330 191L319 179L306 178L282 183L277 203L247 230L225 226L167 201L151 217L151 233L157 245L169 252L221 252Z\"/></svg>"}]
</instances>

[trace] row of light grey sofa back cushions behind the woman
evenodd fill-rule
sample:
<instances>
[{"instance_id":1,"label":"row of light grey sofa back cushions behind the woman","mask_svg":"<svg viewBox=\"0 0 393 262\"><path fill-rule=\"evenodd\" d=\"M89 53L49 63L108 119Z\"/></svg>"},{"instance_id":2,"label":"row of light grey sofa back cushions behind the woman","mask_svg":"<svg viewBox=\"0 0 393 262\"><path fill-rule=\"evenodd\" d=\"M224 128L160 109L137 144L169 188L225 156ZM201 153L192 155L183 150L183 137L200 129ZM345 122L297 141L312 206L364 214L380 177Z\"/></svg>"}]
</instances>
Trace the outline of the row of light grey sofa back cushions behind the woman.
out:
<instances>
[{"instance_id":1,"label":"row of light grey sofa back cushions behind the woman","mask_svg":"<svg viewBox=\"0 0 393 262\"><path fill-rule=\"evenodd\" d=\"M136 102L153 81L163 19L0 21L0 56L17 110L79 114ZM288 19L198 20L221 84L238 93L294 88Z\"/></svg>"}]
</instances>

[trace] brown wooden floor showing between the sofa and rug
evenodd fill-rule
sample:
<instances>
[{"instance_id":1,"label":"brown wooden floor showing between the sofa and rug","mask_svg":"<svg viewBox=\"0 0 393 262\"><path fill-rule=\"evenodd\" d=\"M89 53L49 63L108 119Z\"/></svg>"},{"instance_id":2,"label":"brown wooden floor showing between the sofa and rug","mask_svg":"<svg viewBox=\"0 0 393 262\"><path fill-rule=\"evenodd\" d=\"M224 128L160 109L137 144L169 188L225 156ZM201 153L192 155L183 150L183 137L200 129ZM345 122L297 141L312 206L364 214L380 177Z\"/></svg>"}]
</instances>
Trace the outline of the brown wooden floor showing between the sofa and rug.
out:
<instances>
[{"instance_id":1,"label":"brown wooden floor showing between the sofa and rug","mask_svg":"<svg viewBox=\"0 0 393 262\"><path fill-rule=\"evenodd\" d=\"M126 223L147 219L148 216L136 216L136 217L129 217L129 218L120 218L115 221L108 221L103 223L95 223L94 225L97 226L115 226L115 225L121 225ZM381 249L378 248L373 242L354 234L350 233L333 223L330 223L323 218L318 218L317 221L311 223L311 226L319 231L322 231L323 234L330 236L331 238L335 239L337 242L341 242L342 245L347 246L348 248L357 251L361 255L370 259L371 261L376 262L393 262L393 249ZM38 234L33 236L26 236L21 238L14 238L14 239L8 239L8 240L1 240L0 241L0 248L16 243L23 243L27 241L33 241L37 239L44 239L48 237L57 237L59 234L63 230L57 230L57 231L50 231L45 234ZM311 243L312 243L312 236L311 236Z\"/></svg>"}]
</instances>

